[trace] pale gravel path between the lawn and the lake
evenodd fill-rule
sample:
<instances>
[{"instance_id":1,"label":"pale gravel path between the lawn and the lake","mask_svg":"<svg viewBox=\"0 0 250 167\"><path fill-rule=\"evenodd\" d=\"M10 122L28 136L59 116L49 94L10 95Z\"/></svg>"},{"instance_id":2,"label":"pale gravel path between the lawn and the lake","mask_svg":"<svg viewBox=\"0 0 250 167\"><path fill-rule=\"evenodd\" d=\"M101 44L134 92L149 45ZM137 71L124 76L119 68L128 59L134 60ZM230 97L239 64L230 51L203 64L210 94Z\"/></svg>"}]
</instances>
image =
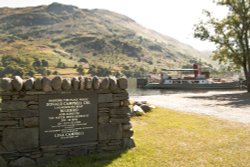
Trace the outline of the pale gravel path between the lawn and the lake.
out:
<instances>
[{"instance_id":1,"label":"pale gravel path between the lawn and the lake","mask_svg":"<svg viewBox=\"0 0 250 167\"><path fill-rule=\"evenodd\" d=\"M147 101L150 104L176 111L205 114L250 124L250 94L245 91L131 96L131 100Z\"/></svg>"}]
</instances>

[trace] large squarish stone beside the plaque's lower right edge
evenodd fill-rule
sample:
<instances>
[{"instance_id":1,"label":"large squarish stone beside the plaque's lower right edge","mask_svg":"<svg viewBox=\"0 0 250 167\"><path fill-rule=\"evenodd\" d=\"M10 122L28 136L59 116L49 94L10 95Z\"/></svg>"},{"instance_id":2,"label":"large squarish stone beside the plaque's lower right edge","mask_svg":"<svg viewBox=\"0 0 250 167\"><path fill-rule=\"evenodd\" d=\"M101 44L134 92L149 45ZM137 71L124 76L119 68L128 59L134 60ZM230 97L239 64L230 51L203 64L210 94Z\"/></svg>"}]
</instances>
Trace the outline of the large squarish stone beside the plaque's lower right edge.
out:
<instances>
[{"instance_id":1,"label":"large squarish stone beside the plaque's lower right edge","mask_svg":"<svg viewBox=\"0 0 250 167\"><path fill-rule=\"evenodd\" d=\"M100 124L99 125L99 140L111 140L122 138L121 124Z\"/></svg>"}]
</instances>

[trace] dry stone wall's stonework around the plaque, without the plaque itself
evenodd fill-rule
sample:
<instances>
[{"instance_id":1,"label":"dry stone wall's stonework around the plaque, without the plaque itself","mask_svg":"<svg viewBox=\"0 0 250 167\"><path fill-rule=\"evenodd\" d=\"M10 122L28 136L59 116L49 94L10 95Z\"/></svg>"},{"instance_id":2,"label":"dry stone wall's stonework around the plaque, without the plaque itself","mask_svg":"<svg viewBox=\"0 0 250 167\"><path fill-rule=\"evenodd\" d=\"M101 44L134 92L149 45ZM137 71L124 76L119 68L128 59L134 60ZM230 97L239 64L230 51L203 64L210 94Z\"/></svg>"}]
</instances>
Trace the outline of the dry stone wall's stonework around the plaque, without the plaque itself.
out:
<instances>
[{"instance_id":1,"label":"dry stone wall's stonework around the plaque, without the plaque itself","mask_svg":"<svg viewBox=\"0 0 250 167\"><path fill-rule=\"evenodd\" d=\"M134 147L126 78L15 76L1 79L0 166L32 166L68 156ZM43 95L97 95L97 140L41 145L39 99Z\"/></svg>"}]
</instances>

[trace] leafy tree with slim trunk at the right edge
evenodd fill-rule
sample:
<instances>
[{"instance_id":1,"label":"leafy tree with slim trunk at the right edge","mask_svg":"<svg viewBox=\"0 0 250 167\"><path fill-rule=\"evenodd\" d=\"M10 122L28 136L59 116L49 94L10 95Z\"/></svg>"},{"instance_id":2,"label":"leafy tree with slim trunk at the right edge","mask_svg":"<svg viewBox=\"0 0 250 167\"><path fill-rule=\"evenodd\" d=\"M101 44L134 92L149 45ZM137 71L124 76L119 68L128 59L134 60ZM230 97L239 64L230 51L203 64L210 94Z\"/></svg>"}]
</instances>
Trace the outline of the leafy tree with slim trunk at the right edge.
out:
<instances>
[{"instance_id":1,"label":"leafy tree with slim trunk at the right edge","mask_svg":"<svg viewBox=\"0 0 250 167\"><path fill-rule=\"evenodd\" d=\"M216 19L205 11L207 20L194 26L194 37L216 44L215 59L243 68L250 92L250 0L217 0L215 3L227 7L227 15Z\"/></svg>"}]
</instances>

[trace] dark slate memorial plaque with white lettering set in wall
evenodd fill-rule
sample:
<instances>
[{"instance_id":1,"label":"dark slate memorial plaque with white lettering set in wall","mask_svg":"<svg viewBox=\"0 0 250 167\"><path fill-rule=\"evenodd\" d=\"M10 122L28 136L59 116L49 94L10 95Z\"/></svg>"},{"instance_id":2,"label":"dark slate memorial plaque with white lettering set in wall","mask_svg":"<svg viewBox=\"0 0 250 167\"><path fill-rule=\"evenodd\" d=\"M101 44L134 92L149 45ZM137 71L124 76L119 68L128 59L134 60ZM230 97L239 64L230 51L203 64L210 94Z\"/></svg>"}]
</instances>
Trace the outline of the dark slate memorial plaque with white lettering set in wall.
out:
<instances>
[{"instance_id":1,"label":"dark slate memorial plaque with white lettering set in wall","mask_svg":"<svg viewBox=\"0 0 250 167\"><path fill-rule=\"evenodd\" d=\"M97 140L97 94L40 95L40 144Z\"/></svg>"}]
</instances>

